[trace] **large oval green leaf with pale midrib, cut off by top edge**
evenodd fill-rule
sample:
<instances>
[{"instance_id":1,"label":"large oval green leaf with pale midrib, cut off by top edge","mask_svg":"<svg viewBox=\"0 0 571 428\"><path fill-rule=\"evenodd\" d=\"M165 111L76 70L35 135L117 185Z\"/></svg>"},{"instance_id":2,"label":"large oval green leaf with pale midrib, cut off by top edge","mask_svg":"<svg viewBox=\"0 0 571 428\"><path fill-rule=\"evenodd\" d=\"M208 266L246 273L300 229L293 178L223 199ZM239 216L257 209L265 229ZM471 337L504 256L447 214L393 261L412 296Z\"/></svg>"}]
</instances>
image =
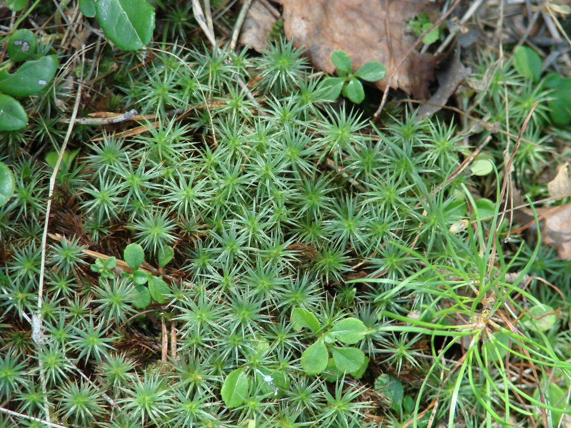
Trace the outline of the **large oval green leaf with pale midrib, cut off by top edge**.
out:
<instances>
[{"instance_id":1,"label":"large oval green leaf with pale midrib, cut off by top edge","mask_svg":"<svg viewBox=\"0 0 571 428\"><path fill-rule=\"evenodd\" d=\"M95 3L99 25L120 49L143 49L155 29L155 9L147 0L99 0Z\"/></svg>"}]
</instances>

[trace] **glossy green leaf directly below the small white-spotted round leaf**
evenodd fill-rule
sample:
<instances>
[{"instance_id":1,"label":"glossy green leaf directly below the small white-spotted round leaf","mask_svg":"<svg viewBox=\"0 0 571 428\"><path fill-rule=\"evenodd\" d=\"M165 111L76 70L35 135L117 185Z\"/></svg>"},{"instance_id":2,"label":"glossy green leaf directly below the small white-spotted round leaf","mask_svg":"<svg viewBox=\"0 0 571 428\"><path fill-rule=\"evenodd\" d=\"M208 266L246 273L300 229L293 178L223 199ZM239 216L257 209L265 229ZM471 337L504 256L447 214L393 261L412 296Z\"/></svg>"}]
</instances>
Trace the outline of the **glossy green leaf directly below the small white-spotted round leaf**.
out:
<instances>
[{"instance_id":1,"label":"glossy green leaf directly below the small white-spotted round leaf","mask_svg":"<svg viewBox=\"0 0 571 428\"><path fill-rule=\"evenodd\" d=\"M57 69L58 57L55 55L26 61L12 73L4 69L0 71L0 91L12 96L37 94L51 82Z\"/></svg>"}]
</instances>

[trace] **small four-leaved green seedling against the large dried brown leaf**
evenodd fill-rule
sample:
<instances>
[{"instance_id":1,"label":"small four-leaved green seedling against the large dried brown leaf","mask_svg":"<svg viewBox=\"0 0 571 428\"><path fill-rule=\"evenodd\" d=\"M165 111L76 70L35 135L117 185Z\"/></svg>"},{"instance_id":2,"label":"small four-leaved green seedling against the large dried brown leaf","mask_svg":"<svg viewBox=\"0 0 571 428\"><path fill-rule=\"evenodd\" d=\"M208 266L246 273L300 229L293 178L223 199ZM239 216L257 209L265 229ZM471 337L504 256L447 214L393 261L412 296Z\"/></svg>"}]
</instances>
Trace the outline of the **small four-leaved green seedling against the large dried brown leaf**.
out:
<instances>
[{"instance_id":1,"label":"small four-leaved green seedling against the large dried brown leaf","mask_svg":"<svg viewBox=\"0 0 571 428\"><path fill-rule=\"evenodd\" d=\"M337 68L339 77L328 77L321 82L325 98L331 101L335 101L343 92L343 96L359 104L365 99L363 84L359 79L376 82L387 74L387 69L379 61L364 63L357 71L352 72L351 58L344 51L333 51L331 61Z\"/></svg>"}]
</instances>

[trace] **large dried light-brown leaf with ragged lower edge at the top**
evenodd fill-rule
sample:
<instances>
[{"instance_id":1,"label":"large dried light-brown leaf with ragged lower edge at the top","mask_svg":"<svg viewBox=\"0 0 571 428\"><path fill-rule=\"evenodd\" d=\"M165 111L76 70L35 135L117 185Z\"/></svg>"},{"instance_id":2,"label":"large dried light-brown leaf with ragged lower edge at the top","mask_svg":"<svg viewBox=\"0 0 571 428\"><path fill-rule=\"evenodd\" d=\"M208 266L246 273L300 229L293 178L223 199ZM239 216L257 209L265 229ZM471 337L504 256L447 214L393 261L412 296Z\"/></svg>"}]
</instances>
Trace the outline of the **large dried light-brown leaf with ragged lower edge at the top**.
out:
<instances>
[{"instance_id":1,"label":"large dried light-brown leaf with ragged lower edge at the top","mask_svg":"<svg viewBox=\"0 0 571 428\"><path fill-rule=\"evenodd\" d=\"M390 76L405 58L416 35L407 22L422 13L435 16L437 2L421 0L279 0L283 5L284 29L294 46L308 49L313 65L333 74L331 53L343 50L351 56L353 71L377 60L387 68L387 76L376 82L384 90ZM436 58L413 51L392 79L415 98L429 96Z\"/></svg>"}]
</instances>

